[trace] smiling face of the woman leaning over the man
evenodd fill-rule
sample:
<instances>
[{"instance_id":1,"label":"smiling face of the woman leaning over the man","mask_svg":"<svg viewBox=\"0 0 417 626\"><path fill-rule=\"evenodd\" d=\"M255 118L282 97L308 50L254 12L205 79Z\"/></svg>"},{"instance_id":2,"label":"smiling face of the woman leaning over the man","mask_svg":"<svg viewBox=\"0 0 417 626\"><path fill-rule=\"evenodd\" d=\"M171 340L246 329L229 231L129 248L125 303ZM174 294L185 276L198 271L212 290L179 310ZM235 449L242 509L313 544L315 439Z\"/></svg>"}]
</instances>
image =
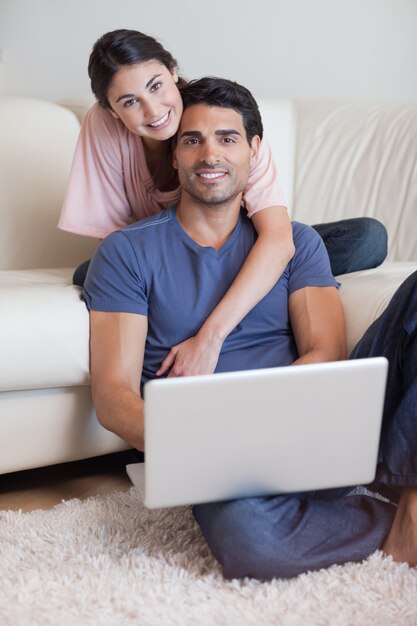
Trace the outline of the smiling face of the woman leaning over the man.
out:
<instances>
[{"instance_id":1,"label":"smiling face of the woman leaning over the man","mask_svg":"<svg viewBox=\"0 0 417 626\"><path fill-rule=\"evenodd\" d=\"M182 115L177 81L177 73L159 61L126 65L110 83L110 113L145 140L169 139L177 132Z\"/></svg>"}]
</instances>

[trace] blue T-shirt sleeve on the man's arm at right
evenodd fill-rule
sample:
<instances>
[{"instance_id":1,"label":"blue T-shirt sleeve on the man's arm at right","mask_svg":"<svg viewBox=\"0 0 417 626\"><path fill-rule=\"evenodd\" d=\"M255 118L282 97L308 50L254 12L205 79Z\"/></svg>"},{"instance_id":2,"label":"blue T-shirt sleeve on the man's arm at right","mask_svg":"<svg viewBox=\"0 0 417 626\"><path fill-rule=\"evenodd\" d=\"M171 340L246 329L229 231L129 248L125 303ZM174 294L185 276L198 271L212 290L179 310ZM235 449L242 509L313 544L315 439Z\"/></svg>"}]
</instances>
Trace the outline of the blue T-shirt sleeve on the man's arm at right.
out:
<instances>
[{"instance_id":1,"label":"blue T-shirt sleeve on the man's arm at right","mask_svg":"<svg viewBox=\"0 0 417 626\"><path fill-rule=\"evenodd\" d=\"M293 222L293 237L296 252L289 265L288 293L303 287L339 287L326 246L314 228Z\"/></svg>"}]
</instances>

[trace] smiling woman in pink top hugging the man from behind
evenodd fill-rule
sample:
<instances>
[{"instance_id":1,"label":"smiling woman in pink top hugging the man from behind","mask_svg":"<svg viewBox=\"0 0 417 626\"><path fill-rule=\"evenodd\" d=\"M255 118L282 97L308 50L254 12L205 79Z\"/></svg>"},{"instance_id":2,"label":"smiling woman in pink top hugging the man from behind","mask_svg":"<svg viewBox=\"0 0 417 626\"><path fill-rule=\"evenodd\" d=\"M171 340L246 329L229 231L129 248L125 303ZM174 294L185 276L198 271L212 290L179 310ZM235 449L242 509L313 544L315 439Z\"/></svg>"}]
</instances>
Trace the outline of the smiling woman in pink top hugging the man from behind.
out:
<instances>
[{"instance_id":1,"label":"smiling woman in pink top hugging the man from behind","mask_svg":"<svg viewBox=\"0 0 417 626\"><path fill-rule=\"evenodd\" d=\"M159 42L132 30L98 39L88 72L97 104L83 123L59 227L102 239L179 199L170 140L182 114L184 81L177 75L175 59ZM175 376L212 373L224 339L269 292L292 258L292 229L270 148L265 140L261 146L244 191L257 242L200 331L171 349L159 374L168 369ZM375 227L380 225L375 222ZM331 237L334 232L330 228ZM349 248L347 238L344 244ZM369 260L369 249L367 256ZM82 284L83 272L85 267L75 273L76 284Z\"/></svg>"}]
</instances>

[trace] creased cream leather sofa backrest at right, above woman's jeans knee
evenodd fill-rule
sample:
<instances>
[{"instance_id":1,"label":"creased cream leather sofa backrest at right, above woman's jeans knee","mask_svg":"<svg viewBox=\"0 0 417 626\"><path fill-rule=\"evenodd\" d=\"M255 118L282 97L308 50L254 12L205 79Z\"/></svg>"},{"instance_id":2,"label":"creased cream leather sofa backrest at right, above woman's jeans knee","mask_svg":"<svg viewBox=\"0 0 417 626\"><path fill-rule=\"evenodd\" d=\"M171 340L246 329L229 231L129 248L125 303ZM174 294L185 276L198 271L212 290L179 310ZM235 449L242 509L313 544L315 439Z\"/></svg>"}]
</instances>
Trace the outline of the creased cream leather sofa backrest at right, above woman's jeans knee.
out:
<instances>
[{"instance_id":1,"label":"creased cream leather sofa backrest at right, above woman's jeans knee","mask_svg":"<svg viewBox=\"0 0 417 626\"><path fill-rule=\"evenodd\" d=\"M281 144L294 159L292 218L318 224L375 217L388 230L389 260L417 260L417 103L294 102L293 145L280 116L271 116L274 101L261 101L261 111L265 104L278 166Z\"/></svg>"}]
</instances>

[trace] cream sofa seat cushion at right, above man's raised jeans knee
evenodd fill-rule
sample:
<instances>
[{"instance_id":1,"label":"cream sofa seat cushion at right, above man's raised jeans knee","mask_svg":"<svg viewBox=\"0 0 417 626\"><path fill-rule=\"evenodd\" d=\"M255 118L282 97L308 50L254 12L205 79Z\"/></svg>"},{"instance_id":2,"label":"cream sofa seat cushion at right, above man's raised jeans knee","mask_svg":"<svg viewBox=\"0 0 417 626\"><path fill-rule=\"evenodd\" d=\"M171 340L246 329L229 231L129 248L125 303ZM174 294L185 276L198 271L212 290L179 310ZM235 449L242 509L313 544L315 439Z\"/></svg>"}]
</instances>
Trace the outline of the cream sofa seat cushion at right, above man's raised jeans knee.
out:
<instances>
[{"instance_id":1,"label":"cream sofa seat cushion at right, above man's raised jeans knee","mask_svg":"<svg viewBox=\"0 0 417 626\"><path fill-rule=\"evenodd\" d=\"M341 283L339 293L345 312L348 352L383 313L401 283L414 271L417 271L417 262L387 262L372 270L337 277Z\"/></svg>"}]
</instances>

